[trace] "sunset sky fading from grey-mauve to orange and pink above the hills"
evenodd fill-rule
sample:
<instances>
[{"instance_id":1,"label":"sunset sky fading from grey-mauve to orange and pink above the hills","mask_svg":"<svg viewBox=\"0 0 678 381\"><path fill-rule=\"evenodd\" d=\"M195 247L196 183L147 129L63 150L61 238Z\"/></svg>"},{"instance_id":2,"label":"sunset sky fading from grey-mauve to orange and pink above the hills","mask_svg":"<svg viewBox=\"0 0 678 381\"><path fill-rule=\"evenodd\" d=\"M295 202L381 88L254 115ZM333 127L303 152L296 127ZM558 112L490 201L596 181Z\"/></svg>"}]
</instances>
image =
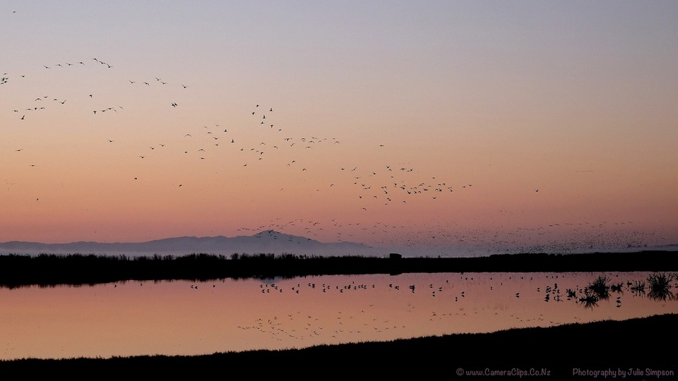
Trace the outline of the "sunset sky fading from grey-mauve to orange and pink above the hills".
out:
<instances>
[{"instance_id":1,"label":"sunset sky fading from grey-mauve to orange and pink above the hills","mask_svg":"<svg viewBox=\"0 0 678 381\"><path fill-rule=\"evenodd\" d=\"M3 1L0 242L678 243L674 1Z\"/></svg>"}]
</instances>

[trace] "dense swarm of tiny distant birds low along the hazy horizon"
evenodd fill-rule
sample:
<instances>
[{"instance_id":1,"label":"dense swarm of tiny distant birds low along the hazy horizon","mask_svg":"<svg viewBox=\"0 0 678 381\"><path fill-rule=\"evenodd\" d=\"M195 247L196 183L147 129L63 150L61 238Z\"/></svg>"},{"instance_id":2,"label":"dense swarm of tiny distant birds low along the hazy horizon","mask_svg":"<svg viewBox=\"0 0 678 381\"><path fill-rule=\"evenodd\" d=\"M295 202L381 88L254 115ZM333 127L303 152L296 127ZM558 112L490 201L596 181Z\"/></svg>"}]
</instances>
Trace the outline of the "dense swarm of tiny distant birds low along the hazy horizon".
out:
<instances>
[{"instance_id":1,"label":"dense swarm of tiny distant birds low along the hazy horizon","mask_svg":"<svg viewBox=\"0 0 678 381\"><path fill-rule=\"evenodd\" d=\"M640 250L646 241L655 240L656 233L634 228L633 221L564 222L547 226L516 227L513 231L498 231L484 226L482 221L461 223L435 221L430 225L387 224L385 222L343 223L335 219L321 222L314 219L284 220L276 218L268 224L238 229L257 238L280 239L280 232L302 231L303 236L317 237L327 227L337 230L335 239L365 240L376 246L415 248L410 255L446 256L458 253L487 255L490 253L583 253L592 250L619 250L620 243L629 250ZM564 237L569 237L567 240ZM663 238L659 238L662 241ZM298 237L287 238L301 244ZM530 244L525 244L526 242ZM457 249L457 250L455 250ZM368 253L369 254L369 253Z\"/></svg>"}]
</instances>

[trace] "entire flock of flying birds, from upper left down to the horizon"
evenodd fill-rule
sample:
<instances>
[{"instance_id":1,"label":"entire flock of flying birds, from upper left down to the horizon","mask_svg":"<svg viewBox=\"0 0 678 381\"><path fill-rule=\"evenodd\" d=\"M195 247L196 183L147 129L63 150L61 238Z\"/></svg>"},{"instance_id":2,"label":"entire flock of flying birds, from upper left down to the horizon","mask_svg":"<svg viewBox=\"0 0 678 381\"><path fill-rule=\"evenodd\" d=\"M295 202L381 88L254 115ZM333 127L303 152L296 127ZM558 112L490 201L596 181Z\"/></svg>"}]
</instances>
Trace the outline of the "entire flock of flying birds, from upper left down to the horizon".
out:
<instances>
[{"instance_id":1,"label":"entire flock of flying birds, from upper left down to the horizon","mask_svg":"<svg viewBox=\"0 0 678 381\"><path fill-rule=\"evenodd\" d=\"M91 68L95 75L110 80L109 73L114 73L117 65L103 61L97 57L82 60L73 60L63 63L42 64L42 70L51 75L58 76L60 72L71 71L76 73L84 68ZM77 74L75 74L77 76ZM0 78L0 91L21 86L21 82L27 80L27 75L14 75L3 73ZM13 83L17 87L9 87ZM165 104L165 110L153 112L169 112L174 109L182 109L182 104L191 103L191 86L180 81L164 80L160 76L149 75L148 78L132 78L120 80L130 90L129 99L137 99L140 90L156 88L152 95L154 100L165 99L158 104ZM118 84L120 85L120 83ZM11 109L16 115L17 126L28 123L36 113L49 113L57 108L69 108L69 113L90 114L96 119L90 119L96 126L98 118L108 114L122 114L128 109L133 109L134 104L117 104L105 93L97 92L77 95L76 99L64 95L44 95L36 88L37 94L26 99L16 99L17 105ZM182 99L175 99L180 97ZM84 103L83 103L84 102ZM81 106L90 102L92 107ZM94 107L94 105L97 107ZM75 107L80 107L76 109ZM247 116L246 119L244 116ZM148 177L147 174L165 166L168 159L172 162L177 160L189 160L191 167L200 170L201 166L211 169L213 176L222 179L222 184L233 182L232 176L238 176L242 170L256 169L261 171L261 176L266 174L284 174L289 179L294 179L299 189L286 190L285 186L279 186L275 181L268 181L269 191L276 191L277 198L283 202L299 202L307 198L320 197L325 202L331 203L340 195L349 194L352 198L350 207L354 208L352 214L355 219L350 221L343 218L318 218L311 219L271 219L268 223L256 226L242 226L239 231L262 231L275 229L309 237L323 237L335 241L364 241L373 246L406 246L423 247L428 249L440 249L440 253L450 253L453 246L468 246L472 248L487 248L487 252L504 252L509 250L557 250L576 251L593 249L605 249L607 246L640 246L648 239L653 239L653 234L647 234L636 229L629 229L632 222L611 222L621 224L619 229L598 229L600 223L561 222L549 224L549 226L536 226L527 228L506 229L500 226L487 226L481 221L460 221L453 218L453 205L462 205L465 198L454 200L459 194L471 194L477 192L482 185L474 185L473 181L451 181L432 176L427 169L417 168L405 159L391 159L388 147L379 142L372 144L372 156L376 159L370 162L357 162L352 159L350 143L335 136L317 134L295 133L294 126L287 126L284 119L278 117L278 109L273 105L252 104L249 109L243 109L239 123L224 123L215 121L212 123L196 123L194 126L186 126L184 131L170 130L165 135L157 136L155 141L134 142L138 148L135 156L145 164L129 167L127 181L141 183ZM105 118L107 119L107 118ZM42 119L40 123L47 123L49 119ZM127 123L129 120L125 119ZM107 120L109 126L112 123ZM113 122L114 123L114 122ZM123 122L120 122L123 123ZM173 131L173 132L172 132ZM321 130L319 130L321 131ZM129 138L120 133L111 131L111 136L101 141L101 145L122 145ZM103 149L103 147L102 147ZM347 149L349 149L347 151ZM16 155L30 157L28 147L13 147ZM121 150L120 155L129 159L129 149ZM123 153L124 152L124 153ZM337 158L334 167L319 167L318 163L327 157ZM30 167L39 169L41 163L31 161ZM239 169L237 169L239 167ZM182 179L182 173L177 171L171 174L174 177L174 187L182 191L196 190L201 188L194 177L190 180ZM320 179L328 178L326 183ZM13 179L4 179L7 191L11 191L15 182ZM236 180L237 181L237 180ZM210 179L208 183L213 183ZM129 184L128 184L129 185ZM278 188L276 188L278 187ZM275 189L274 189L275 188ZM339 190L340 189L340 190ZM528 188L526 191L540 193L539 188ZM540 195L544 193L541 192ZM536 197L536 196L535 196ZM40 202L40 197L35 198ZM446 200L446 201L443 201ZM226 201L225 201L226 202ZM256 200L255 200L256 202ZM434 203L434 204L431 204ZM439 203L439 204L437 204ZM439 212L430 225L422 224L421 221L412 224L389 224L382 222L382 217L388 209L398 207L396 212L401 215L410 214L420 207L432 208ZM439 205L439 206L435 206ZM497 215L502 216L502 211ZM510 223L510 218L505 218ZM503 223L500 223L503 224ZM607 222L605 222L607 224ZM566 229L558 226L567 226ZM600 225L602 227L602 225ZM564 242L559 236L567 234L575 237L570 243L564 245L553 242ZM554 239L556 238L556 239ZM526 242L535 243L532 247L525 246ZM552 247L549 247L552 245ZM561 246L558 246L561 245ZM567 246L569 245L569 246ZM567 246L567 247L566 247Z\"/></svg>"}]
</instances>

